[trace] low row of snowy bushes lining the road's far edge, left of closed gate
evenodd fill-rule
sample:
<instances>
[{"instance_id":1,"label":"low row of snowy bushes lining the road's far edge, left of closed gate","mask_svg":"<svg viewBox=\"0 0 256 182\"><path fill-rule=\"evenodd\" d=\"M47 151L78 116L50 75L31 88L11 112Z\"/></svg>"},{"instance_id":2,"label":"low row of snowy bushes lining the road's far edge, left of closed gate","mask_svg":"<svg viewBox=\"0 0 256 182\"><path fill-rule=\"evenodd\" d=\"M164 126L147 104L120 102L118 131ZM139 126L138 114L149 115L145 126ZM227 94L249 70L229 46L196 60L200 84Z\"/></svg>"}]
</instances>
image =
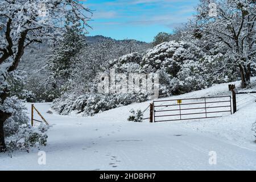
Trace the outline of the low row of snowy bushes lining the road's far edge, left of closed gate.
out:
<instances>
[{"instance_id":1,"label":"low row of snowy bushes lining the road's far edge, left of closed gate","mask_svg":"<svg viewBox=\"0 0 256 182\"><path fill-rule=\"evenodd\" d=\"M52 104L52 109L61 115L68 115L72 111L82 113L82 115L94 115L102 111L125 106L134 102L147 101L148 96L145 94L84 94L82 96L61 97L56 99Z\"/></svg>"}]
</instances>

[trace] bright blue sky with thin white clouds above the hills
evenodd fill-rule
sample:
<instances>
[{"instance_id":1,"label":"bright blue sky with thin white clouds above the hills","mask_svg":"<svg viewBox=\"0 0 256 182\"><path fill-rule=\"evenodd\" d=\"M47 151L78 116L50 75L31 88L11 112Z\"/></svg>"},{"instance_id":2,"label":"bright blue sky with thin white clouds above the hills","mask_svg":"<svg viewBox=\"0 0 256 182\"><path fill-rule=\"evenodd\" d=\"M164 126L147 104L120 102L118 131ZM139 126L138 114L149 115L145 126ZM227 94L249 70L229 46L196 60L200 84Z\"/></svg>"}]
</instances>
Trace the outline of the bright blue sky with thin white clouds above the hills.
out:
<instances>
[{"instance_id":1,"label":"bright blue sky with thin white clouds above the hills","mask_svg":"<svg viewBox=\"0 0 256 182\"><path fill-rule=\"evenodd\" d=\"M187 22L199 0L87 0L93 11L89 35L151 42L159 32Z\"/></svg>"}]
</instances>

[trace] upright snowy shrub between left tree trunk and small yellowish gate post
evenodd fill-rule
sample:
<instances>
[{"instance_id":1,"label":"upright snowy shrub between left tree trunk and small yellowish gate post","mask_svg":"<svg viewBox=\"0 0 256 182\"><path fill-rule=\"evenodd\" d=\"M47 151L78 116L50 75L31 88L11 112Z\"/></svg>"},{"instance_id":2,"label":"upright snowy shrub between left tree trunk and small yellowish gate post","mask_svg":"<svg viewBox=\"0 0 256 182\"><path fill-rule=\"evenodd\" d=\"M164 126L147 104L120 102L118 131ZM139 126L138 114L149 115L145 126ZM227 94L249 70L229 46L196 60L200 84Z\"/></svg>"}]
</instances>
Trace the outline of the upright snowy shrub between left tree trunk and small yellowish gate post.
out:
<instances>
[{"instance_id":1,"label":"upright snowy shrub between left tree trunk and small yellowish gate post","mask_svg":"<svg viewBox=\"0 0 256 182\"><path fill-rule=\"evenodd\" d=\"M16 133L20 125L28 123L27 108L22 100L15 96L7 98L2 107L5 107L5 109L10 110L10 113L12 113L3 126L5 136L9 137Z\"/></svg>"}]
</instances>

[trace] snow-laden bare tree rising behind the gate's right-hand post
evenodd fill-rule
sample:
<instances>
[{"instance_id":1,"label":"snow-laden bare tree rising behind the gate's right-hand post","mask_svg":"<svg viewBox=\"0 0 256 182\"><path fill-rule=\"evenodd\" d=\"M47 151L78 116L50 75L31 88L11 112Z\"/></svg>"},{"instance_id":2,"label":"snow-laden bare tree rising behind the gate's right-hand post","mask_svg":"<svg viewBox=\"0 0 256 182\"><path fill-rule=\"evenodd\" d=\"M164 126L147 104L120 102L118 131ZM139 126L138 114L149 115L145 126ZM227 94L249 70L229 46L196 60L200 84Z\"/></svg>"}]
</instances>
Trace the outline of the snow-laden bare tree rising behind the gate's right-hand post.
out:
<instances>
[{"instance_id":1,"label":"snow-laden bare tree rising behind the gate's right-hand post","mask_svg":"<svg viewBox=\"0 0 256 182\"><path fill-rule=\"evenodd\" d=\"M201 0L191 27L203 48L221 48L225 66L238 68L242 88L250 84L256 57L255 0Z\"/></svg>"}]
</instances>

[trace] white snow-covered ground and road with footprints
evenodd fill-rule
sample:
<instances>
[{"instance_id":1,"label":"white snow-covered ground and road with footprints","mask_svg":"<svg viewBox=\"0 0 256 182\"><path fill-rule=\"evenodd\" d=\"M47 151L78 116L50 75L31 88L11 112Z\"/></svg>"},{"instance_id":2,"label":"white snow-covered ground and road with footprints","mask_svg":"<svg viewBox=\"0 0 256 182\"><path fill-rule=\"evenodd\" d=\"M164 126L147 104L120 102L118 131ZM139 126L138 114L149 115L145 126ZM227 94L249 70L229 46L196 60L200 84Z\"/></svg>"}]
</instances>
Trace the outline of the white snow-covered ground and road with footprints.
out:
<instances>
[{"instance_id":1,"label":"white snow-covered ground and road with footprints","mask_svg":"<svg viewBox=\"0 0 256 182\"><path fill-rule=\"evenodd\" d=\"M238 85L239 82L236 82ZM228 84L171 97L226 96ZM105 111L94 117L47 114L51 104L35 104L52 127L48 131L46 165L38 150L0 155L1 170L255 170L256 143L251 125L256 103L221 118L160 123L127 122L131 109L144 110L150 101ZM30 104L27 104L30 109ZM30 114L30 113L28 113ZM145 117L148 117L146 112ZM209 152L217 164L209 164Z\"/></svg>"}]
</instances>

